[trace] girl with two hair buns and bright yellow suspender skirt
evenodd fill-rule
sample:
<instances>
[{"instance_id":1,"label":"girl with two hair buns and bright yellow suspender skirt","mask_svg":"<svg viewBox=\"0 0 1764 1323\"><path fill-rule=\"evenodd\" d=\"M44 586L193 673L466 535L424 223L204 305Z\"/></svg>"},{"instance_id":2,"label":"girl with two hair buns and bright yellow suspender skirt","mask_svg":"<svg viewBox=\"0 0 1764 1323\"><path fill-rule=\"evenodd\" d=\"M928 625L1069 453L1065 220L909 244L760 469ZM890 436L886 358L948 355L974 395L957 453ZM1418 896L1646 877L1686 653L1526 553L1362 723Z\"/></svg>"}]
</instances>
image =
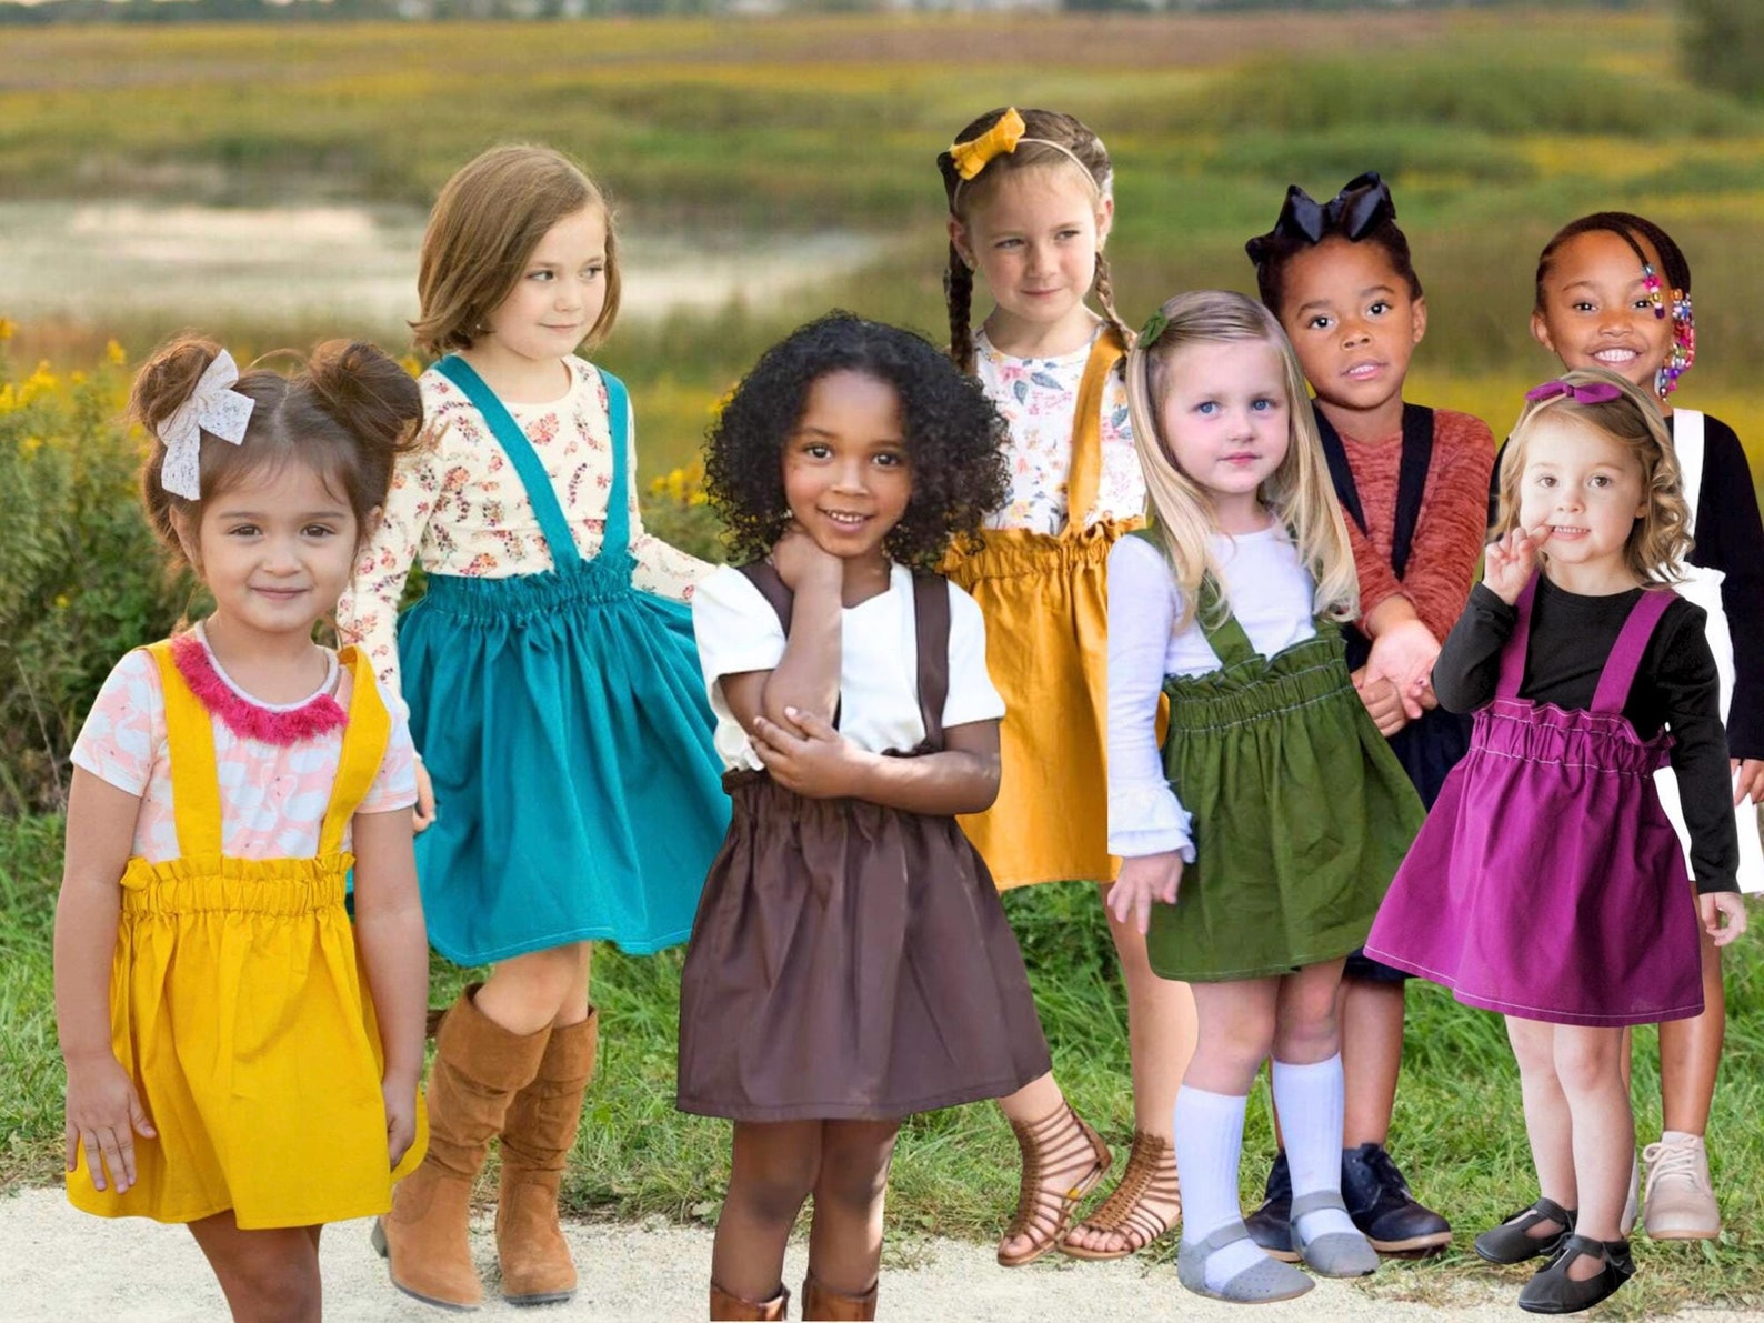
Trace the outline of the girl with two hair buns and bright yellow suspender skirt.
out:
<instances>
[{"instance_id":1,"label":"girl with two hair buns and bright yellow suspender skirt","mask_svg":"<svg viewBox=\"0 0 1764 1323\"><path fill-rule=\"evenodd\" d=\"M185 1222L235 1318L316 1321L325 1222L385 1212L423 1150L411 739L367 658L312 642L422 400L367 344L282 377L182 339L131 413L213 612L118 662L74 746L67 1198Z\"/></svg>"}]
</instances>

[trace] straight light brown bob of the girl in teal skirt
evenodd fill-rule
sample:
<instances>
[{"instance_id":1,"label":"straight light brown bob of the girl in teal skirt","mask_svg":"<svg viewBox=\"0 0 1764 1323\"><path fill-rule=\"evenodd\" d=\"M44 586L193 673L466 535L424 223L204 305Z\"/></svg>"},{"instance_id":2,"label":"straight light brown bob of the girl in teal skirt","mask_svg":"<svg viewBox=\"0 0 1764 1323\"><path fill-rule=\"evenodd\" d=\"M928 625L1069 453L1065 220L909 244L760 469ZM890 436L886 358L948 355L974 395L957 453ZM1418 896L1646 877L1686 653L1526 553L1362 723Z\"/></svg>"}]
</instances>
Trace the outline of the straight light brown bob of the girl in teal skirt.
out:
<instances>
[{"instance_id":1,"label":"straight light brown bob of the girl in teal skirt","mask_svg":"<svg viewBox=\"0 0 1764 1323\"><path fill-rule=\"evenodd\" d=\"M607 226L607 302L587 328L593 349L619 316L619 240L605 194L549 146L494 146L441 187L416 266L422 312L411 323L427 355L469 349L513 293L533 249L559 220L594 208Z\"/></svg>"}]
</instances>

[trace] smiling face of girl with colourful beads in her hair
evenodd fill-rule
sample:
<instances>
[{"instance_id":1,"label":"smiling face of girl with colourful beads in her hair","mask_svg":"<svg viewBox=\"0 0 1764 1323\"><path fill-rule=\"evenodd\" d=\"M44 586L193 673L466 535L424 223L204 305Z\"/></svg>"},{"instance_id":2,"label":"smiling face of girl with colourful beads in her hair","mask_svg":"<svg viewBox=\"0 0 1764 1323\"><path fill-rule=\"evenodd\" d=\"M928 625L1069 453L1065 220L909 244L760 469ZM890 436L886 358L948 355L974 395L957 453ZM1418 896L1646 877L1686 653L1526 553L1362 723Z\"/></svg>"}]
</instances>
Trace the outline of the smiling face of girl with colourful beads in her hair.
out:
<instances>
[{"instance_id":1,"label":"smiling face of girl with colourful beads in her hair","mask_svg":"<svg viewBox=\"0 0 1764 1323\"><path fill-rule=\"evenodd\" d=\"M1660 272L1660 254L1635 242ZM1642 263L1621 235L1589 229L1570 238L1551 258L1540 293L1531 335L1563 367L1603 367L1653 393L1672 349L1672 319L1655 316Z\"/></svg>"}]
</instances>

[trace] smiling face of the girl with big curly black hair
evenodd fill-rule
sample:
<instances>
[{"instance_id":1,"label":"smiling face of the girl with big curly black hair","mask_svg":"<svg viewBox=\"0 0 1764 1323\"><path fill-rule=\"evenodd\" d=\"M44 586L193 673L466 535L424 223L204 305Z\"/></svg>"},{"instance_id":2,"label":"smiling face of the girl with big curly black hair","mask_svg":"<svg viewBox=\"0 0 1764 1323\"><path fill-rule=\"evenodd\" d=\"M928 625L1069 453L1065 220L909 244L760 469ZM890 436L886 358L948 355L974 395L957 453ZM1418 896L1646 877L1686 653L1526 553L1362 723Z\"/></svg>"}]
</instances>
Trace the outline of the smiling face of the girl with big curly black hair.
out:
<instances>
[{"instance_id":1,"label":"smiling face of the girl with big curly black hair","mask_svg":"<svg viewBox=\"0 0 1764 1323\"><path fill-rule=\"evenodd\" d=\"M882 540L912 497L894 386L850 370L817 377L785 437L783 496L824 552L840 559L880 556Z\"/></svg>"}]
</instances>

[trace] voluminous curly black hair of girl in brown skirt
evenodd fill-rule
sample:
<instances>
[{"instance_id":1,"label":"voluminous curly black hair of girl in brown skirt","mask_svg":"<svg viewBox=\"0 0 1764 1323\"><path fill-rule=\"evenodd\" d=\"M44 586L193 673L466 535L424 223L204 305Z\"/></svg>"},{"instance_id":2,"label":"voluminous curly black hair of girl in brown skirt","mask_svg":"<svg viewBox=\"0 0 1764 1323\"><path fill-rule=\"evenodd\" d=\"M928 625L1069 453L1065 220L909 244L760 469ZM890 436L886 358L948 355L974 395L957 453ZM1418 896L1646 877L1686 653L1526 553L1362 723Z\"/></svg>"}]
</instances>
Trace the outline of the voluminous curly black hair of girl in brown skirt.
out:
<instances>
[{"instance_id":1,"label":"voluminous curly black hair of girl in brown skirt","mask_svg":"<svg viewBox=\"0 0 1764 1323\"><path fill-rule=\"evenodd\" d=\"M829 372L861 372L900 397L912 496L882 549L914 570L935 570L951 542L970 542L1005 501L1005 422L930 340L850 312L829 312L760 355L706 434L704 485L732 559L760 559L783 536L785 441L810 386Z\"/></svg>"}]
</instances>

